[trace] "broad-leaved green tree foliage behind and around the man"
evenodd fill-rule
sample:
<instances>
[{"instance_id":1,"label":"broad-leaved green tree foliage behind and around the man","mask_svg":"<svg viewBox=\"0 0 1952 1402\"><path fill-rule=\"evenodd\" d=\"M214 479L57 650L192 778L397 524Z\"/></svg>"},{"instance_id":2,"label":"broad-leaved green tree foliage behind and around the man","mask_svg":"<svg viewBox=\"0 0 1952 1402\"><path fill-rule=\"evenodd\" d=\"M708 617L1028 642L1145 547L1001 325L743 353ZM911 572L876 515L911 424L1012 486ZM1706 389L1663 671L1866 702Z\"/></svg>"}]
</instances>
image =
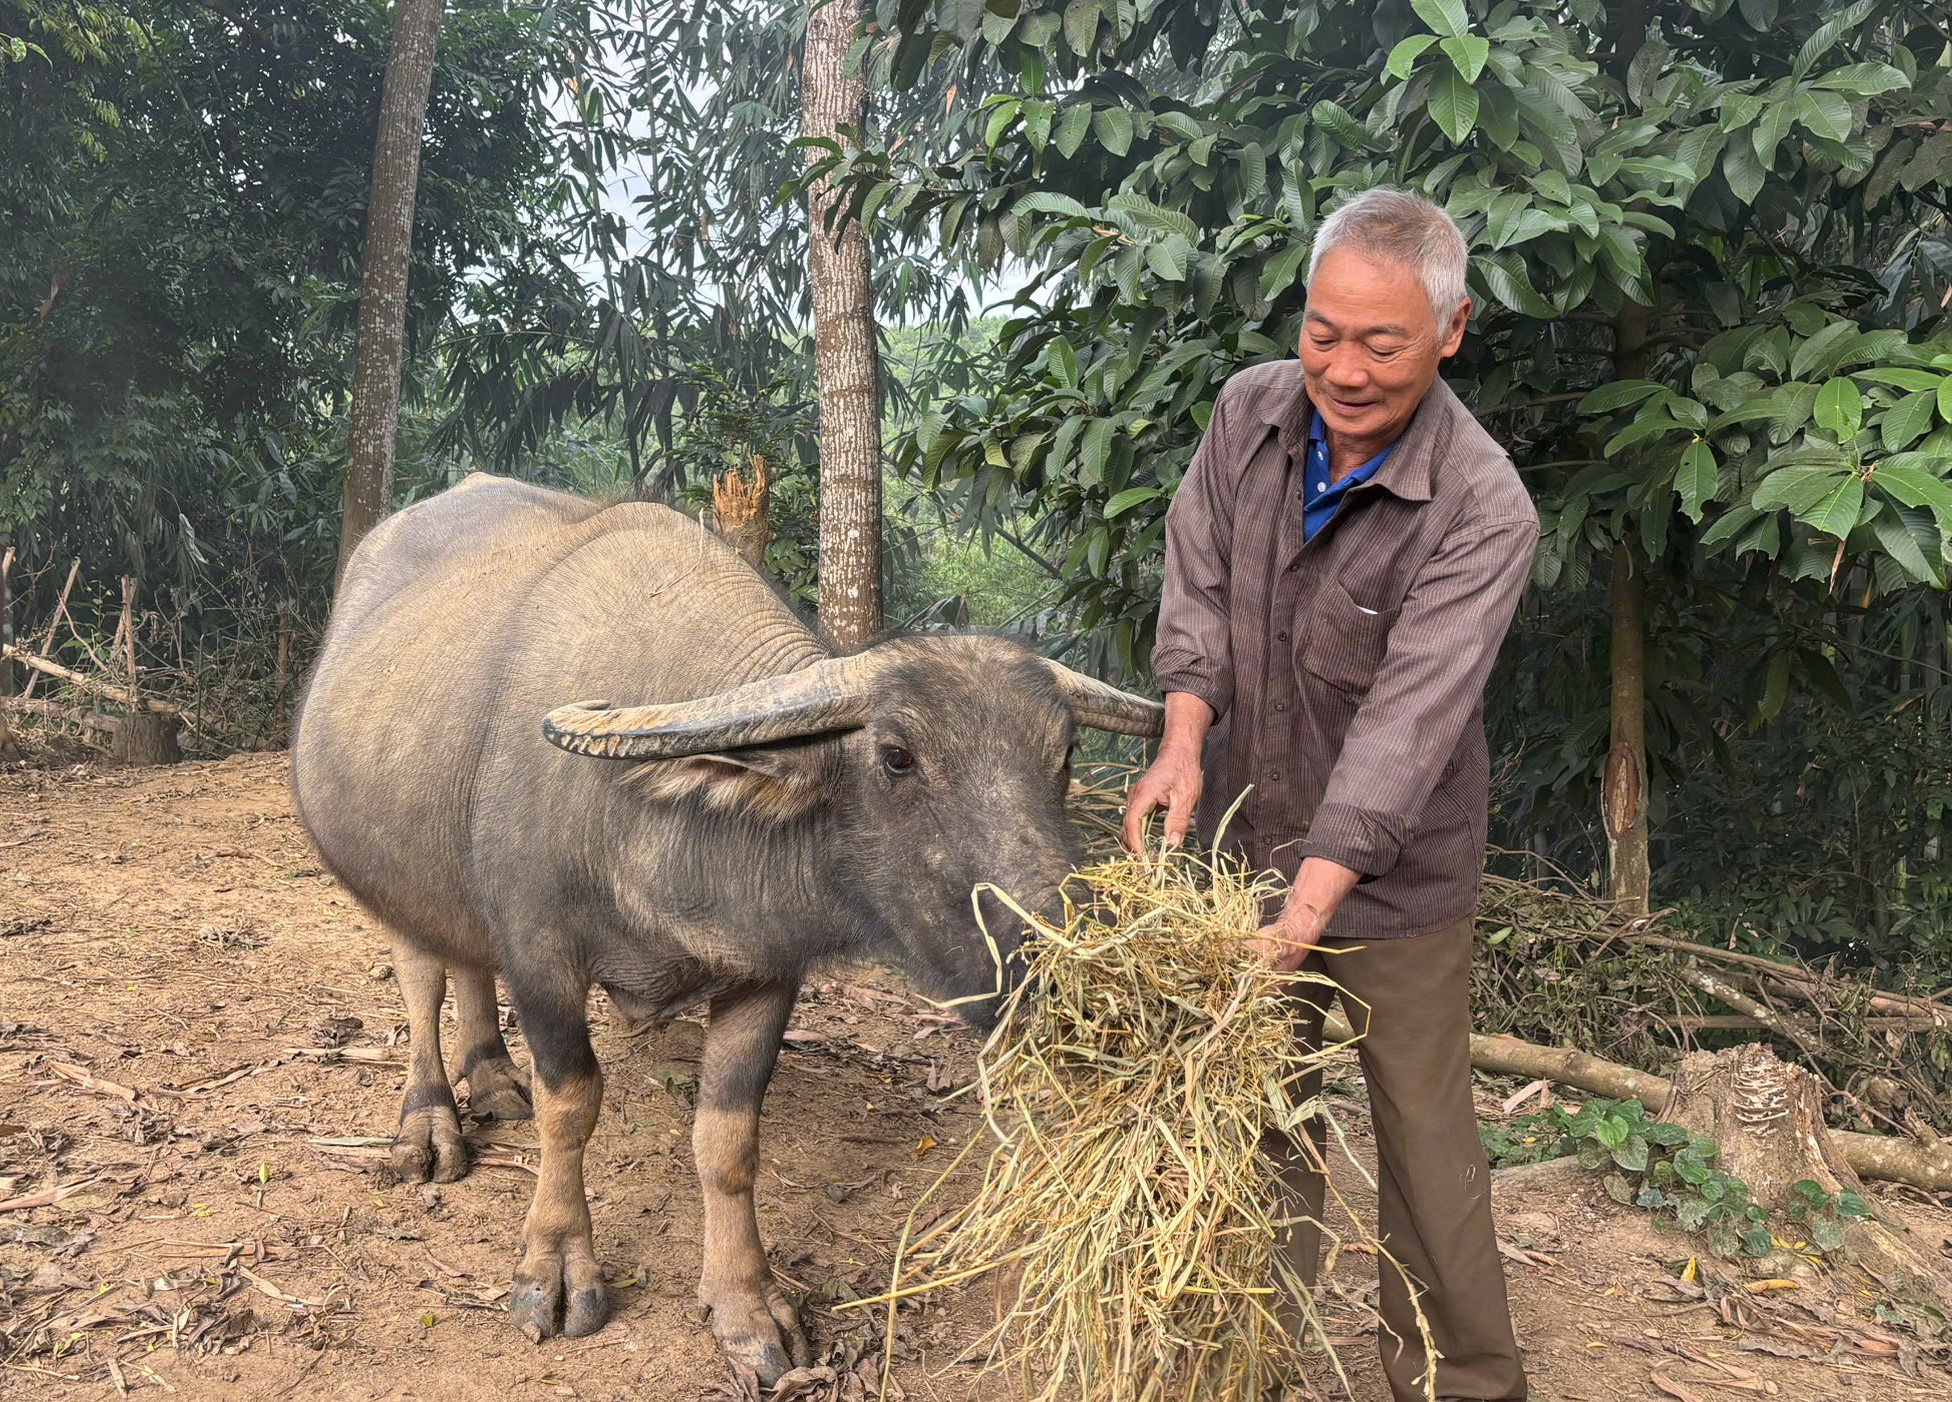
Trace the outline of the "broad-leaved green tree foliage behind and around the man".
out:
<instances>
[{"instance_id":1,"label":"broad-leaved green tree foliage behind and around the man","mask_svg":"<svg viewBox=\"0 0 1952 1402\"><path fill-rule=\"evenodd\" d=\"M1333 201L1423 189L1472 244L1448 373L1546 525L1493 687L1499 838L1603 861L1595 578L1626 541L1661 894L1821 941L1944 939L1944 14L882 0L888 82L951 66L994 96L851 162L863 207L1038 277L900 461L1033 515L1101 662L1142 670L1163 510L1218 385L1292 353Z\"/></svg>"}]
</instances>

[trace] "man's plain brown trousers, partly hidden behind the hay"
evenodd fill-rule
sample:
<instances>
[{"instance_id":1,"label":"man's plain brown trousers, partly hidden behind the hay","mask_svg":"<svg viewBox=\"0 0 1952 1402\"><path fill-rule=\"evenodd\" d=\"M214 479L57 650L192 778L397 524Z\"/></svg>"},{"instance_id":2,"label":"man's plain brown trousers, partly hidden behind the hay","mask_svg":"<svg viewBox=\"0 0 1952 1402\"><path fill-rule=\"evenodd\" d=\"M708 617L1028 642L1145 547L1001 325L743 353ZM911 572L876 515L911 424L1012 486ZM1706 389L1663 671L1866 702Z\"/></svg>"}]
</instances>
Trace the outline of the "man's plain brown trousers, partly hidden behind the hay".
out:
<instances>
[{"instance_id":1,"label":"man's plain brown trousers, partly hidden behind the hay","mask_svg":"<svg viewBox=\"0 0 1952 1402\"><path fill-rule=\"evenodd\" d=\"M1308 969L1343 988L1343 1013L1361 1035L1376 1131L1376 1211L1382 1246L1402 1271L1382 1269L1382 1367L1398 1402L1425 1396L1431 1359L1417 1330L1417 1302L1437 1345L1439 1398L1523 1398L1525 1369L1511 1334L1505 1269L1491 1230L1491 1175L1478 1142L1470 1082L1472 926L1368 945L1327 939ZM1320 1045L1323 1004L1296 996L1296 1035ZM1320 1072L1304 1095L1320 1090ZM1284 1240L1294 1271L1314 1281L1322 1261L1327 1127L1312 1121L1314 1154L1284 1136L1269 1142L1282 1164L1286 1205L1298 1222Z\"/></svg>"}]
</instances>

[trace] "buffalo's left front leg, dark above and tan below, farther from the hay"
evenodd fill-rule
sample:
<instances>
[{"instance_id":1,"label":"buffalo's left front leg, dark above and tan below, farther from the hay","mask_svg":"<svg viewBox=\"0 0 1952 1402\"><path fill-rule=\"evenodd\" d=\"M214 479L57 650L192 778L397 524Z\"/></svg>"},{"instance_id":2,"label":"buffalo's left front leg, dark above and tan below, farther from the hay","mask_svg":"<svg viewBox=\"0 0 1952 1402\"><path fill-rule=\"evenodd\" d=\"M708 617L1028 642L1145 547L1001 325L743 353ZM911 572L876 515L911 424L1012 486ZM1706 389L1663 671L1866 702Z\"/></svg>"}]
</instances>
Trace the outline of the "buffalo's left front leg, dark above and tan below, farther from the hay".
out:
<instances>
[{"instance_id":1,"label":"buffalo's left front leg, dark above and tan below, farther from the hay","mask_svg":"<svg viewBox=\"0 0 1952 1402\"><path fill-rule=\"evenodd\" d=\"M603 1105L603 1074L590 1047L588 990L576 998L511 992L535 1064L543 1166L521 1228L521 1265L508 1310L515 1326L541 1343L556 1334L595 1334L609 1312L584 1195L584 1146Z\"/></svg>"}]
</instances>

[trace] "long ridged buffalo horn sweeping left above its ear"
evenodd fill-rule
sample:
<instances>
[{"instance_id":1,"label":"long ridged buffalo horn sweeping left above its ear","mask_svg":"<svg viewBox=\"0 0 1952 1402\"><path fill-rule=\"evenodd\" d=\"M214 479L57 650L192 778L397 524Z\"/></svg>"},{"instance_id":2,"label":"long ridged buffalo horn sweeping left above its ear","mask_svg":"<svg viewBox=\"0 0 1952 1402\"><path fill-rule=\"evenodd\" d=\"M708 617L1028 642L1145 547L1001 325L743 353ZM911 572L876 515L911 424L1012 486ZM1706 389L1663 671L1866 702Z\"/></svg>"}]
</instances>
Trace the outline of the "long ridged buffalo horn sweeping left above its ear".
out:
<instances>
[{"instance_id":1,"label":"long ridged buffalo horn sweeping left above its ear","mask_svg":"<svg viewBox=\"0 0 1952 1402\"><path fill-rule=\"evenodd\" d=\"M670 705L578 701L543 717L543 734L572 754L679 760L863 724L873 697L867 656L832 658L777 678Z\"/></svg>"}]
</instances>

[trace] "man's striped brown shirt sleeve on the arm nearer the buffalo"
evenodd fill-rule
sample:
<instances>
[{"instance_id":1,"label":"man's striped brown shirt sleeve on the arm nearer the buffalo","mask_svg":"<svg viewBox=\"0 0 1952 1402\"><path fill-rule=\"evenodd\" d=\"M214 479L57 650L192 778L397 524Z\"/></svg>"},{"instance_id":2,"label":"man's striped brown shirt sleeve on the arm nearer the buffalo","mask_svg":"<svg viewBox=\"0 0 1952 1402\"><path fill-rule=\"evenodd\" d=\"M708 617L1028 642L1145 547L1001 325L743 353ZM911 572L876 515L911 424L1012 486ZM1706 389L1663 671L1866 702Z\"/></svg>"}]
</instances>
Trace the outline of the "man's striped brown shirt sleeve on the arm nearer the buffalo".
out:
<instances>
[{"instance_id":1,"label":"man's striped brown shirt sleeve on the arm nearer the buffalo","mask_svg":"<svg viewBox=\"0 0 1952 1402\"><path fill-rule=\"evenodd\" d=\"M1206 433L1165 510L1165 580L1152 676L1159 691L1189 691L1226 715L1234 705L1228 574L1234 537L1234 463L1228 392L1214 400Z\"/></svg>"}]
</instances>

